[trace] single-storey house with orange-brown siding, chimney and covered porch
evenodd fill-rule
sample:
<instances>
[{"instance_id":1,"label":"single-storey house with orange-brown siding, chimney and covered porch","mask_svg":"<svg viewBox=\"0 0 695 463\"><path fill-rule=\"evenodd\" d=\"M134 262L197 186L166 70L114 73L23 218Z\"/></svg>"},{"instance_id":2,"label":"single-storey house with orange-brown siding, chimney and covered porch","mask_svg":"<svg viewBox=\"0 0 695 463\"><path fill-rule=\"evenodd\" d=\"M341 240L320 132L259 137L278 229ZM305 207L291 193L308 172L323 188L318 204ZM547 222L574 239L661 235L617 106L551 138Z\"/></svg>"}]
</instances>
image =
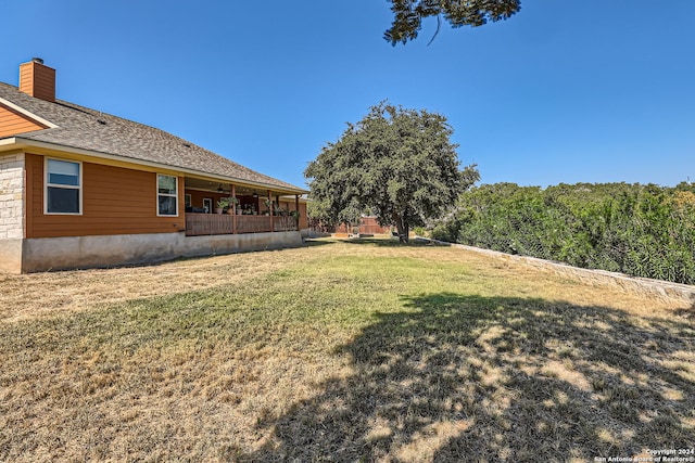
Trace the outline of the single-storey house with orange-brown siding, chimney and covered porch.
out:
<instances>
[{"instance_id":1,"label":"single-storey house with orange-brown siding, chimney and covered porch","mask_svg":"<svg viewBox=\"0 0 695 463\"><path fill-rule=\"evenodd\" d=\"M305 193L163 130L58 100L55 70L40 59L20 66L18 87L0 82L0 271L300 245ZM232 214L214 214L229 197Z\"/></svg>"}]
</instances>

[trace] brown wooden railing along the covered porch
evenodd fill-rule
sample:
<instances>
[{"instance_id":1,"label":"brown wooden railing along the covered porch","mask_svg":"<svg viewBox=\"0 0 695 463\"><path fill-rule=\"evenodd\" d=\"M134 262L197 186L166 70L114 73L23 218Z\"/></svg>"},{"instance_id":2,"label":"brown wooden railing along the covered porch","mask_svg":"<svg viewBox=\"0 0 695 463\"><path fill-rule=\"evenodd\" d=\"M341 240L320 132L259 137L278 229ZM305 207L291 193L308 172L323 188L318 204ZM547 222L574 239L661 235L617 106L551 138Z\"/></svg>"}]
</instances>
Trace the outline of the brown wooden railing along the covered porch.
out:
<instances>
[{"instance_id":1,"label":"brown wooden railing along the covered porch","mask_svg":"<svg viewBox=\"0 0 695 463\"><path fill-rule=\"evenodd\" d=\"M277 216L230 216L229 214L186 214L186 235L200 236L210 234L268 233L298 229L294 217ZM273 227L270 227L273 223Z\"/></svg>"}]
</instances>

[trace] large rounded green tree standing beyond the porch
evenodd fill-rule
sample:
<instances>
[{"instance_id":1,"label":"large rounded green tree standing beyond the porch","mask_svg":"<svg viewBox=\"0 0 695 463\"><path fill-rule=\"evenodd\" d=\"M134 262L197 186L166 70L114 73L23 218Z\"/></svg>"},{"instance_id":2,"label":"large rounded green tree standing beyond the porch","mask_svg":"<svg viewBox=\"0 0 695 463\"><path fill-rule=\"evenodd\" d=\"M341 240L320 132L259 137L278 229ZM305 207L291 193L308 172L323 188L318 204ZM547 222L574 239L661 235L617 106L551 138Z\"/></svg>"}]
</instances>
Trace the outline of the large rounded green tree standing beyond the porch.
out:
<instances>
[{"instance_id":1,"label":"large rounded green tree standing beyond the porch","mask_svg":"<svg viewBox=\"0 0 695 463\"><path fill-rule=\"evenodd\" d=\"M407 241L410 227L440 217L479 179L475 165L459 170L452 133L440 114L372 106L306 168L313 216L355 223L374 214Z\"/></svg>"}]
</instances>

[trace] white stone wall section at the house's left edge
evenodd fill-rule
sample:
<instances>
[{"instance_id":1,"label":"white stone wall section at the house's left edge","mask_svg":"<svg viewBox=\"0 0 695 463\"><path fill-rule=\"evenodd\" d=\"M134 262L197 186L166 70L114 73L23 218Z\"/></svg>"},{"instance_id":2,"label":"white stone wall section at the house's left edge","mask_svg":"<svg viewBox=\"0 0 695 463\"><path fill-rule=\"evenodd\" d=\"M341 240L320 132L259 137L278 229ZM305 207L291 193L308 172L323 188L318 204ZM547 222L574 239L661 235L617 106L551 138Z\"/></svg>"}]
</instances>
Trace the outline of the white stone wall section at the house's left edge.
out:
<instances>
[{"instance_id":1,"label":"white stone wall section at the house's left edge","mask_svg":"<svg viewBox=\"0 0 695 463\"><path fill-rule=\"evenodd\" d=\"M24 237L24 154L0 155L0 240Z\"/></svg>"}]
</instances>

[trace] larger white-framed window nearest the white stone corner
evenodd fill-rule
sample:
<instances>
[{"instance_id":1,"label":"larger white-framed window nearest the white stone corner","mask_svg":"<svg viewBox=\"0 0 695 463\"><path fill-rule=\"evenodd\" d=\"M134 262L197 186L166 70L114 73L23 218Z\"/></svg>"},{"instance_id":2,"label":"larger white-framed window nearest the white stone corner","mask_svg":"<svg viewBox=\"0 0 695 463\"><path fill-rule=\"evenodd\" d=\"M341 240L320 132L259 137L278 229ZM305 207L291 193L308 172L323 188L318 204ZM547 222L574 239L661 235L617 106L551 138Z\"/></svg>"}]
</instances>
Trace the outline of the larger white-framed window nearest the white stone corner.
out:
<instances>
[{"instance_id":1,"label":"larger white-framed window nearest the white stone corner","mask_svg":"<svg viewBox=\"0 0 695 463\"><path fill-rule=\"evenodd\" d=\"M81 214L81 165L46 159L46 213Z\"/></svg>"}]
</instances>

